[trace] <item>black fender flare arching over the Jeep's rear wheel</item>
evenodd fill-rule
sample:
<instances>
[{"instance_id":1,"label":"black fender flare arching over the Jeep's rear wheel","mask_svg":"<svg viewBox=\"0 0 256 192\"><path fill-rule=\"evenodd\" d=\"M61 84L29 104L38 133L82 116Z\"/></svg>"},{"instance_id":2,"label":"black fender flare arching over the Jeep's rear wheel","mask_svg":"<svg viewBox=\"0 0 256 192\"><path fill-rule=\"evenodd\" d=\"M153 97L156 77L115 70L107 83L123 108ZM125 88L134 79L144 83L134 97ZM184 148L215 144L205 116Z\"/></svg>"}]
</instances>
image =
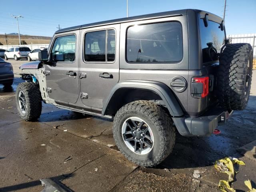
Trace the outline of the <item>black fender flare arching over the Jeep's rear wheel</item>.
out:
<instances>
[{"instance_id":1,"label":"black fender flare arching over the Jeep's rear wheel","mask_svg":"<svg viewBox=\"0 0 256 192\"><path fill-rule=\"evenodd\" d=\"M108 108L110 100L115 95L116 91L123 88L150 90L158 94L158 96L162 98L171 116L180 117L184 115L178 100L174 96L172 90L168 88L166 84L163 84L161 82L156 82L156 81L145 81L145 80L127 80L127 81L122 81L116 84L110 91L108 98L103 103L102 115L106 114L106 110Z\"/></svg>"}]
</instances>

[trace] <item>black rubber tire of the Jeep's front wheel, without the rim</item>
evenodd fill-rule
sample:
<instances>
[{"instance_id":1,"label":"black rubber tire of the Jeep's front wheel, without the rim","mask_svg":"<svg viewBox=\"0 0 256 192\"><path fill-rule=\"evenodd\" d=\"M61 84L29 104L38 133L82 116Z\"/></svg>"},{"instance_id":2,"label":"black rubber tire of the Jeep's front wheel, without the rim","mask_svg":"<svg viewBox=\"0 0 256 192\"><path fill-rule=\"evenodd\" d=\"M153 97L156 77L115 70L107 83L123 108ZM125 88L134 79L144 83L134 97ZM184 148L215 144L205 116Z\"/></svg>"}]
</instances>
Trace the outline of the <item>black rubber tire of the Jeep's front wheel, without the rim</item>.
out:
<instances>
[{"instance_id":1,"label":"black rubber tire of the Jeep's front wheel, without the rim","mask_svg":"<svg viewBox=\"0 0 256 192\"><path fill-rule=\"evenodd\" d=\"M22 113L20 109L18 96L19 92L22 91L24 93L24 97L26 100L26 112ZM18 84L16 89L16 106L20 115L25 121L34 121L38 119L42 112L42 97L39 90L39 87L33 82L25 82Z\"/></svg>"}]
</instances>

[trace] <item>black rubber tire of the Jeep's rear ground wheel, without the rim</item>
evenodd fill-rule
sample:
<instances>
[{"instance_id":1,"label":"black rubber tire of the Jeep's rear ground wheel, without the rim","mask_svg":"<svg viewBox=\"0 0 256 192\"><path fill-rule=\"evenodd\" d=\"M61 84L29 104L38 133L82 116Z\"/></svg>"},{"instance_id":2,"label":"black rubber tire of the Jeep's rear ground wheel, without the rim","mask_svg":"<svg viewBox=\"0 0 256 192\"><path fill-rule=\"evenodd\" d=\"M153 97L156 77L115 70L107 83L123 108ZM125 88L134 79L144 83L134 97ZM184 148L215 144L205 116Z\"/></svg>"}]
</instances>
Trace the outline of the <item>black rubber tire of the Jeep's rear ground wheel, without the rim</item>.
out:
<instances>
[{"instance_id":1,"label":"black rubber tire of the Jeep's rear ground wheel, without the rim","mask_svg":"<svg viewBox=\"0 0 256 192\"><path fill-rule=\"evenodd\" d=\"M154 135L154 144L148 154L138 154L130 150L122 137L122 124L129 117L138 117L146 122ZM172 119L162 106L138 100L126 104L118 110L114 117L113 127L116 146L128 160L144 167L160 164L171 152L175 143L175 128Z\"/></svg>"}]
</instances>

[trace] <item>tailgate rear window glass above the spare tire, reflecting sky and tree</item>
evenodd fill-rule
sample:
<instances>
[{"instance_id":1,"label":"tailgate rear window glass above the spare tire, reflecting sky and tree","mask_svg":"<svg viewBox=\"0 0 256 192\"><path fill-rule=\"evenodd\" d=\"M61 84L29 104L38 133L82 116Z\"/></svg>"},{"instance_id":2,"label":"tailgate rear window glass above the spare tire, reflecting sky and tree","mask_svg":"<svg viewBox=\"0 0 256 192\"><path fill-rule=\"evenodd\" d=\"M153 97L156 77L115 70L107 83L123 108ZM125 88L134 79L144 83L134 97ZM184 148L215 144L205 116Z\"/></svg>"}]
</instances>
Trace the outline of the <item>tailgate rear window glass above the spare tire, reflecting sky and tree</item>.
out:
<instances>
[{"instance_id":1,"label":"tailgate rear window glass above the spare tire, reflecting sky and tree","mask_svg":"<svg viewBox=\"0 0 256 192\"><path fill-rule=\"evenodd\" d=\"M205 27L204 20L200 19L199 28L204 63L218 61L216 51L220 53L225 40L224 30L221 30L219 26L220 24L208 20L208 26Z\"/></svg>"}]
</instances>

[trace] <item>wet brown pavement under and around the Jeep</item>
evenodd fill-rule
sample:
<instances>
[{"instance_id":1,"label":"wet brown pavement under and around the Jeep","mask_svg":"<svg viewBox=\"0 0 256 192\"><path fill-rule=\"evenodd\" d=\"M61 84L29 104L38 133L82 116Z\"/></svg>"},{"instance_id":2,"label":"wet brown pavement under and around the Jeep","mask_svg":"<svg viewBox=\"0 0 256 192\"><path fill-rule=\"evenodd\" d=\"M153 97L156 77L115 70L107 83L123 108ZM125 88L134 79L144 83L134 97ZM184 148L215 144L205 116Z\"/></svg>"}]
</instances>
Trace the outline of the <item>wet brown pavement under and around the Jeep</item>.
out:
<instances>
[{"instance_id":1,"label":"wet brown pavement under and around the Jeep","mask_svg":"<svg viewBox=\"0 0 256 192\"><path fill-rule=\"evenodd\" d=\"M0 85L0 192L41 191L42 178L58 179L73 191L219 191L219 180L227 180L228 175L212 165L226 156L246 163L232 185L237 191L248 190L243 184L246 179L256 182L256 160L236 152L256 140L256 71L246 110L234 112L219 127L220 135L177 133L173 152L162 164L140 168L116 150L108 120L49 104L43 104L38 122L20 120L15 90L22 80L17 66L26 61L10 62L16 71L14 84L12 88ZM194 170L201 172L197 180L193 180Z\"/></svg>"}]
</instances>

